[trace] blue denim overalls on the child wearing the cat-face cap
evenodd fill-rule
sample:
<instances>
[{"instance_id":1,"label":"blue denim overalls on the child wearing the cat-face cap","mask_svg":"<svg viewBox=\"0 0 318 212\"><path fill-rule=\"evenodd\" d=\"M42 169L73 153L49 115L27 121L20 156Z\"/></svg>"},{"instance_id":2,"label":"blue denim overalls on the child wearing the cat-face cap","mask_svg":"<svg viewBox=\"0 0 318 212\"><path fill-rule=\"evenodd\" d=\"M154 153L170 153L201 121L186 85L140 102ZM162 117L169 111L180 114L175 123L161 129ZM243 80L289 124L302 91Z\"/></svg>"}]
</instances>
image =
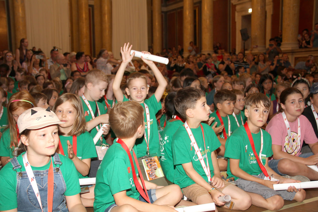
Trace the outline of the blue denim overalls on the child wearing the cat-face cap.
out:
<instances>
[{"instance_id":1,"label":"blue denim overalls on the child wearing the cat-face cap","mask_svg":"<svg viewBox=\"0 0 318 212\"><path fill-rule=\"evenodd\" d=\"M60 166L62 162L60 162L59 155L54 153L52 157L55 167L53 166L54 173L54 189L53 189L53 206L52 211L54 212L67 212L68 209L66 207L66 200L64 196L64 192L66 191L66 184L63 179ZM21 165L19 164L16 157L11 159L11 164L13 166L13 170L17 172L17 210L18 211L41 211L41 207L38 203L38 199L36 198L31 183L29 181L27 173L21 172ZM20 170L20 172L19 172ZM47 176L49 170L46 169L44 171L33 171L35 180L38 184L38 189L41 197L43 212L47 212Z\"/></svg>"}]
</instances>

